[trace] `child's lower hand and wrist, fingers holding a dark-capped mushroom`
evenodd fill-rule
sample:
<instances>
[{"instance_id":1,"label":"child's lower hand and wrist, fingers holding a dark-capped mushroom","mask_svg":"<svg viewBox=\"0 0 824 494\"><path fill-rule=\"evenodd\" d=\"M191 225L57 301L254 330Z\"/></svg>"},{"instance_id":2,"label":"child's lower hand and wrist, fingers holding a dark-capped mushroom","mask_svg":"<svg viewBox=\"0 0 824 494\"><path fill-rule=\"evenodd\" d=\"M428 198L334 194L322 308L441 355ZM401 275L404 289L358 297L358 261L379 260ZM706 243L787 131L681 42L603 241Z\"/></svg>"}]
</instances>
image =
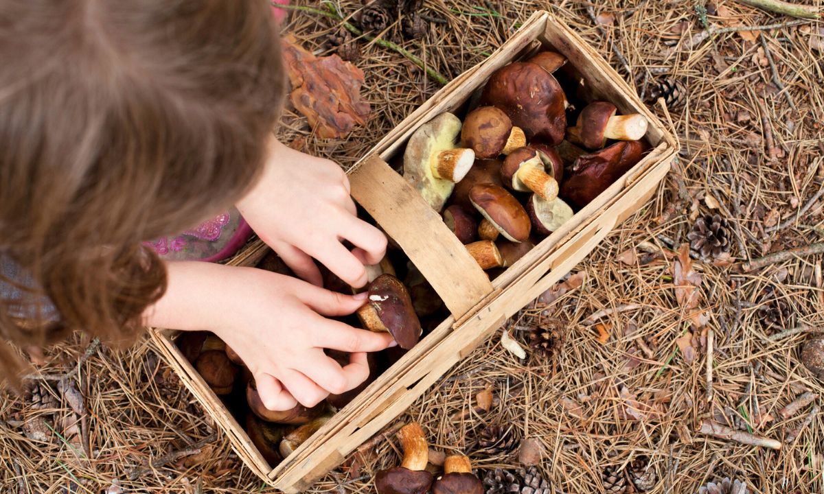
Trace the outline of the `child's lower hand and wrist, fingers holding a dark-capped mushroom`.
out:
<instances>
[{"instance_id":1,"label":"child's lower hand and wrist, fingers holding a dark-capped mushroom","mask_svg":"<svg viewBox=\"0 0 824 494\"><path fill-rule=\"evenodd\" d=\"M393 343L388 333L324 317L353 313L366 301L364 294L347 296L255 268L168 266L169 287L148 323L217 334L255 376L266 408L312 407L330 393L355 388L369 374L364 352ZM324 348L351 353L349 365L339 366Z\"/></svg>"}]
</instances>

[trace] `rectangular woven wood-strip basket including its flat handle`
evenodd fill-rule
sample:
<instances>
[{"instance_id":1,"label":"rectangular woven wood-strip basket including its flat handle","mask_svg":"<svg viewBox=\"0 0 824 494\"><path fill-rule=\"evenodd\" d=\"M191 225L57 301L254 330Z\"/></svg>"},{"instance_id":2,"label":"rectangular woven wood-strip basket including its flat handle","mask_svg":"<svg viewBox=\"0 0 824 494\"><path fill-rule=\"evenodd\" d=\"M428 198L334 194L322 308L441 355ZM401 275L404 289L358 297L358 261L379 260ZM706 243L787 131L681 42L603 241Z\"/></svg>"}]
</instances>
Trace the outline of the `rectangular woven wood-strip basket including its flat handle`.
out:
<instances>
[{"instance_id":1,"label":"rectangular woven wood-strip basket including its flat handle","mask_svg":"<svg viewBox=\"0 0 824 494\"><path fill-rule=\"evenodd\" d=\"M564 54L598 99L622 114L644 114L653 150L587 207L493 282L447 229L438 213L386 161L402 152L420 124L466 105L496 69L537 49ZM276 468L269 468L246 432L177 350L167 331L152 331L162 355L222 427L246 465L284 492L302 492L394 420L439 377L501 324L558 282L621 221L653 195L667 174L677 141L635 91L569 27L536 12L485 62L443 87L387 134L350 172L352 195L405 251L452 313ZM258 250L257 252L262 252ZM251 258L259 257L254 255Z\"/></svg>"}]
</instances>

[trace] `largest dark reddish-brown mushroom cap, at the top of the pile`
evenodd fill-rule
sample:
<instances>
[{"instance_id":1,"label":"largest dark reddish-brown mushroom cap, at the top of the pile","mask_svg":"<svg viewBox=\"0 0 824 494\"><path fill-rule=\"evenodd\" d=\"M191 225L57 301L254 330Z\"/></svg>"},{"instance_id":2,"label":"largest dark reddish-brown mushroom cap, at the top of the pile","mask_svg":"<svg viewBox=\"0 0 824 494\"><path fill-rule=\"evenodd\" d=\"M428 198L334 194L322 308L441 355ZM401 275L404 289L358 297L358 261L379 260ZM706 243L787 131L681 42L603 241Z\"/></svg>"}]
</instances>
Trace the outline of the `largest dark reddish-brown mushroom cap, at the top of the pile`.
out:
<instances>
[{"instance_id":1,"label":"largest dark reddish-brown mushroom cap, at the top of the pile","mask_svg":"<svg viewBox=\"0 0 824 494\"><path fill-rule=\"evenodd\" d=\"M503 110L527 138L555 145L566 131L566 96L558 81L535 63L510 63L495 71L481 92L482 105Z\"/></svg>"}]
</instances>

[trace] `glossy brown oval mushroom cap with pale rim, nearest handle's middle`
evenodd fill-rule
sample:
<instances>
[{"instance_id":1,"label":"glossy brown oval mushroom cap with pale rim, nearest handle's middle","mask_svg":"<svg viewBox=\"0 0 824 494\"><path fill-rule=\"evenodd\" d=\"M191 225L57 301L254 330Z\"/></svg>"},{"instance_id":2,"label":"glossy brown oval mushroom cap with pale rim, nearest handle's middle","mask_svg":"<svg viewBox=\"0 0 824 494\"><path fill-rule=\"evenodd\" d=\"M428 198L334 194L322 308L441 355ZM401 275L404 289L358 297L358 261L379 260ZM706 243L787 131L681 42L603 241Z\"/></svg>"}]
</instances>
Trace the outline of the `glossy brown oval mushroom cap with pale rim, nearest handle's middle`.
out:
<instances>
[{"instance_id":1,"label":"glossy brown oval mushroom cap with pale rim, nearest handle's middle","mask_svg":"<svg viewBox=\"0 0 824 494\"><path fill-rule=\"evenodd\" d=\"M506 189L493 184L476 184L469 197L475 209L507 240L523 242L529 239L529 216Z\"/></svg>"}]
</instances>

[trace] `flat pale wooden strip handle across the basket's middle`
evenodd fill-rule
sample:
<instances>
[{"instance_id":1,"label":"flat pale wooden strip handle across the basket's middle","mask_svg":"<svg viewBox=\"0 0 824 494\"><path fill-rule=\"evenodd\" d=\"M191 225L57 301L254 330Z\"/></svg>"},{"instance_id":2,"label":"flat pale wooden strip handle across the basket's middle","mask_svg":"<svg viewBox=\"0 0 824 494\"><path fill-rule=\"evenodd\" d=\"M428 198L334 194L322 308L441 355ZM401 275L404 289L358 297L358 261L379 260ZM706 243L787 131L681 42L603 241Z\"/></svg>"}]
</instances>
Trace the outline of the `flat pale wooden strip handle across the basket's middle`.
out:
<instances>
[{"instance_id":1,"label":"flat pale wooden strip handle across the basket's middle","mask_svg":"<svg viewBox=\"0 0 824 494\"><path fill-rule=\"evenodd\" d=\"M377 155L349 174L352 197L438 292L455 319L493 291L489 277L417 190Z\"/></svg>"}]
</instances>

